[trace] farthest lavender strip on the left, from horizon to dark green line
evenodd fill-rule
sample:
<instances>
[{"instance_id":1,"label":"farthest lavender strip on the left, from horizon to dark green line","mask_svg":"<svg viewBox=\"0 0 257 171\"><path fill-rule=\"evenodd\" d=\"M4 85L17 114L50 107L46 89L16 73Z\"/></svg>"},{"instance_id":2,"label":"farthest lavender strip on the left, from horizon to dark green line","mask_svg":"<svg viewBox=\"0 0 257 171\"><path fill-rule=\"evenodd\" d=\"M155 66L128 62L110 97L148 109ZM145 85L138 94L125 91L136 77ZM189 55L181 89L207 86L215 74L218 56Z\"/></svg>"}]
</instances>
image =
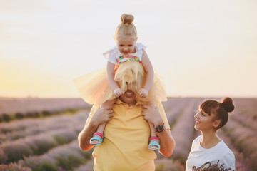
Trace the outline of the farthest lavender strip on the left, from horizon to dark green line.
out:
<instances>
[{"instance_id":1,"label":"farthest lavender strip on the left, from horizon to dark green line","mask_svg":"<svg viewBox=\"0 0 257 171\"><path fill-rule=\"evenodd\" d=\"M81 98L0 98L0 122L58 115L67 109L90 106Z\"/></svg>"}]
</instances>

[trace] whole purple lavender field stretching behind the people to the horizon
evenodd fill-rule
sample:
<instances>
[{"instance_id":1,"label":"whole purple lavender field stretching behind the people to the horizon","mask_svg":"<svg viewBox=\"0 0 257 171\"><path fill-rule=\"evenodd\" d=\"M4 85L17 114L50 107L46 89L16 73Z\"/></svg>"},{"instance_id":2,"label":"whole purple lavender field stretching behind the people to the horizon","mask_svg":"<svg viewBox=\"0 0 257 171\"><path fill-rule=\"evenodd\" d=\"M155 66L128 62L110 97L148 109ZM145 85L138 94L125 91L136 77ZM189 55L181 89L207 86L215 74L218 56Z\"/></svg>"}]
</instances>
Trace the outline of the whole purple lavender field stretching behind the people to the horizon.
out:
<instances>
[{"instance_id":1,"label":"whole purple lavender field stretching behind the people to the horizon","mask_svg":"<svg viewBox=\"0 0 257 171\"><path fill-rule=\"evenodd\" d=\"M203 100L168 98L163 103L176 148L171 157L156 153L157 171L185 169L191 142L200 134L193 115ZM236 98L234 103L218 135L236 155L238 171L255 171L257 99ZM92 170L91 151L81 151L77 142L89 110L81 99L0 98L0 170Z\"/></svg>"}]
</instances>

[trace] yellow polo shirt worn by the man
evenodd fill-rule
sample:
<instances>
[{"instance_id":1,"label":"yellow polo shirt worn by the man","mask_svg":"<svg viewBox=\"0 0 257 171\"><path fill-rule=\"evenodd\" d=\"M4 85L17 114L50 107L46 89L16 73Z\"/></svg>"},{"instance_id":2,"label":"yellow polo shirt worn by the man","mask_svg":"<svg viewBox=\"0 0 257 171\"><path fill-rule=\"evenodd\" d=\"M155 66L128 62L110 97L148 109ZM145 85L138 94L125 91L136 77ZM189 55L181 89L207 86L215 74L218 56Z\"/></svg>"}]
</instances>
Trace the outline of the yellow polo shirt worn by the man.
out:
<instances>
[{"instance_id":1,"label":"yellow polo shirt worn by the man","mask_svg":"<svg viewBox=\"0 0 257 171\"><path fill-rule=\"evenodd\" d=\"M93 106L86 124L98 107ZM104 129L104 140L94 148L94 171L155 170L156 154L148 150L150 129L141 115L141 103L129 106L118 99L113 110L113 118ZM162 106L160 112L169 128Z\"/></svg>"}]
</instances>

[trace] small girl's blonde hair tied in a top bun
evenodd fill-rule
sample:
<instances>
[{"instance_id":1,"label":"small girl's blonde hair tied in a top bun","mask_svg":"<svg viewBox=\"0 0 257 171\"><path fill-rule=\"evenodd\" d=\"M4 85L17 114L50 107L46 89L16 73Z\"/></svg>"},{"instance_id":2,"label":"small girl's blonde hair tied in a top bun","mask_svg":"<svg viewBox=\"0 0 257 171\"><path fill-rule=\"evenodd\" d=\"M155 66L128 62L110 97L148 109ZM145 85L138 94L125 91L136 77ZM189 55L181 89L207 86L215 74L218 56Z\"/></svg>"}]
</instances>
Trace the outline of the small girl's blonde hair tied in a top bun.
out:
<instances>
[{"instance_id":1,"label":"small girl's blonde hair tied in a top bun","mask_svg":"<svg viewBox=\"0 0 257 171\"><path fill-rule=\"evenodd\" d=\"M124 35L132 35L137 37L136 27L133 25L133 16L130 14L122 14L121 15L121 24L116 27L114 33L114 39L117 40L119 33Z\"/></svg>"}]
</instances>

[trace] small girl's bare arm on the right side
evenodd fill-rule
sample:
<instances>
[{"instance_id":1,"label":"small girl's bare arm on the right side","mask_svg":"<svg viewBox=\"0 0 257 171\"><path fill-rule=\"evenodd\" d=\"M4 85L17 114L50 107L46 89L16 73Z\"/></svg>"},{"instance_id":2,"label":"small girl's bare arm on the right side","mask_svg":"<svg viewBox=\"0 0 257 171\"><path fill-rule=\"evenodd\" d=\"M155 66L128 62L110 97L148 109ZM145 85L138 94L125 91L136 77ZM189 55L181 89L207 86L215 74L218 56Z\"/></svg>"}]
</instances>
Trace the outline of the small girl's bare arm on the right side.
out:
<instances>
[{"instance_id":1,"label":"small girl's bare arm on the right side","mask_svg":"<svg viewBox=\"0 0 257 171\"><path fill-rule=\"evenodd\" d=\"M142 55L142 65L143 65L143 69L145 71L146 74L146 82L143 85L143 88L145 88L146 90L150 90L151 85L153 83L153 66L151 64L150 59L147 56L146 51L143 50L143 55Z\"/></svg>"}]
</instances>

